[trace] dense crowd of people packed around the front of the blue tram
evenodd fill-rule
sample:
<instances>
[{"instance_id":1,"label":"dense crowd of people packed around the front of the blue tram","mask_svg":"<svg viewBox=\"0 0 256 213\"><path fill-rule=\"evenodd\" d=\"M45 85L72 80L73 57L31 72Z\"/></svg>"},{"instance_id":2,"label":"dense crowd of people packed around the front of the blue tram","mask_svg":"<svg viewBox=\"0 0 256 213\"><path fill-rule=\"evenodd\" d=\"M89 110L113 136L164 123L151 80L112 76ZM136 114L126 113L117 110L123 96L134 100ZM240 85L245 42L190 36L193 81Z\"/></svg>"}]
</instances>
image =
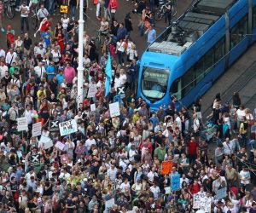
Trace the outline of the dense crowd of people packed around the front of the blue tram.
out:
<instances>
[{"instance_id":1,"label":"dense crowd of people packed around the front of the blue tram","mask_svg":"<svg viewBox=\"0 0 256 213\"><path fill-rule=\"evenodd\" d=\"M94 1L102 43L84 33L84 101L78 105L78 2L68 1L72 18L63 14L55 27L47 18L55 1L40 5L44 29L32 43L23 24L36 2L17 7L24 35L9 25L8 49L0 49L1 212L256 212L256 110L242 106L238 93L232 103L216 95L207 123L201 98L192 110L177 109L175 97L166 108L150 109L135 95L139 66L131 16L118 23L116 0ZM142 28L153 9L154 1L139 1L134 10L148 43L156 37L154 23ZM105 96L108 55L112 82ZM92 86L96 94L88 98ZM119 88L125 95L113 117L109 104ZM19 130L18 118L26 118L27 130ZM77 131L61 136L58 124L69 120ZM42 132L33 136L38 123ZM211 138L203 134L209 129ZM44 140L52 143L46 147ZM166 174L162 163L170 161Z\"/></svg>"}]
</instances>

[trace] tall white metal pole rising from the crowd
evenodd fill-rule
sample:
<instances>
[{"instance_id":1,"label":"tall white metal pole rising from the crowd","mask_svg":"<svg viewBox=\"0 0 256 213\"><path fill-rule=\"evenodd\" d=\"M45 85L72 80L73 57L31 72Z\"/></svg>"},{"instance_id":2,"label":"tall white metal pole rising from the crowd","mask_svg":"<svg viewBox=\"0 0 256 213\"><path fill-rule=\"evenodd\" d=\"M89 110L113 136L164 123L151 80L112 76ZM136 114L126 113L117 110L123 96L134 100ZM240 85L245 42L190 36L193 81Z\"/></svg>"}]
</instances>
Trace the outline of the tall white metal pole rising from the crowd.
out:
<instances>
[{"instance_id":1,"label":"tall white metal pole rising from the crowd","mask_svg":"<svg viewBox=\"0 0 256 213\"><path fill-rule=\"evenodd\" d=\"M79 104L83 102L83 83L84 83L84 66L83 66L83 57L84 57L84 46L83 46L83 37L84 37L84 0L79 0L79 67L78 67L78 107Z\"/></svg>"}]
</instances>

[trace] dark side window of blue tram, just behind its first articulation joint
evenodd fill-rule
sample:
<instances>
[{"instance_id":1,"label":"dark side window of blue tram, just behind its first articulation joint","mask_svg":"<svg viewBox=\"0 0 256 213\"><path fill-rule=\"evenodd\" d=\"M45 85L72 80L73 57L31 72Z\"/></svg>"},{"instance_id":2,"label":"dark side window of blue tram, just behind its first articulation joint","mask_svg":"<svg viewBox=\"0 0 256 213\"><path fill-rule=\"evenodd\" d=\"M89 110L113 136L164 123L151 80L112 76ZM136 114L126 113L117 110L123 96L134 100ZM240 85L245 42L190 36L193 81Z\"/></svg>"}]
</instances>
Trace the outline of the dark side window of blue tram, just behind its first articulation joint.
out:
<instances>
[{"instance_id":1,"label":"dark side window of blue tram, just behind its first articulation joint","mask_svg":"<svg viewBox=\"0 0 256 213\"><path fill-rule=\"evenodd\" d=\"M247 36L248 32L247 15L241 19L236 26L233 26L230 32L230 49L233 49L237 43Z\"/></svg>"}]
</instances>

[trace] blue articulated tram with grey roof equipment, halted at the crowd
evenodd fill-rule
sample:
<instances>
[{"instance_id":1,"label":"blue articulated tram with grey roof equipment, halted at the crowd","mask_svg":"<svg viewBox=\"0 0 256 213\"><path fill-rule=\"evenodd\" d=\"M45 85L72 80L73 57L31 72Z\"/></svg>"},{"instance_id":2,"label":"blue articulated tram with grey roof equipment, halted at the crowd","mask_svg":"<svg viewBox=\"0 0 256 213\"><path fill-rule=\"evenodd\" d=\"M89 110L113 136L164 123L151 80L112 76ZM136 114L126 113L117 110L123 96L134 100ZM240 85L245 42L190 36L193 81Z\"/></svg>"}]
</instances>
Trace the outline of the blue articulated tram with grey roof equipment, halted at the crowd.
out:
<instances>
[{"instance_id":1,"label":"blue articulated tram with grey roof equipment, halted at the crowd","mask_svg":"<svg viewBox=\"0 0 256 213\"><path fill-rule=\"evenodd\" d=\"M137 96L153 110L191 105L256 39L256 0L198 0L148 46Z\"/></svg>"}]
</instances>

